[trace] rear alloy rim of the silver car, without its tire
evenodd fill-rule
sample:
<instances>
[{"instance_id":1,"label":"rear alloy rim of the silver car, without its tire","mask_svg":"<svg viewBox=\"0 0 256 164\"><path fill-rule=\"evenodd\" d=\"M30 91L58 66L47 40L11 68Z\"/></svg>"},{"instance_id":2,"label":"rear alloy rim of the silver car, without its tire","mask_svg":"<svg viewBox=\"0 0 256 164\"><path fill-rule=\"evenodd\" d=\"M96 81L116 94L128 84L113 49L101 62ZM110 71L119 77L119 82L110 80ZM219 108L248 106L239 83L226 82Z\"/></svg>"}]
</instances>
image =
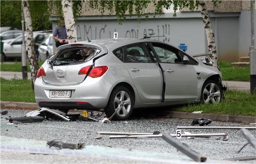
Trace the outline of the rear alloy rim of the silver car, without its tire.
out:
<instances>
[{"instance_id":1,"label":"rear alloy rim of the silver car, without its tire","mask_svg":"<svg viewBox=\"0 0 256 164\"><path fill-rule=\"evenodd\" d=\"M117 114L121 117L126 116L131 109L131 99L126 91L120 91L117 93L114 100L114 108Z\"/></svg>"}]
</instances>

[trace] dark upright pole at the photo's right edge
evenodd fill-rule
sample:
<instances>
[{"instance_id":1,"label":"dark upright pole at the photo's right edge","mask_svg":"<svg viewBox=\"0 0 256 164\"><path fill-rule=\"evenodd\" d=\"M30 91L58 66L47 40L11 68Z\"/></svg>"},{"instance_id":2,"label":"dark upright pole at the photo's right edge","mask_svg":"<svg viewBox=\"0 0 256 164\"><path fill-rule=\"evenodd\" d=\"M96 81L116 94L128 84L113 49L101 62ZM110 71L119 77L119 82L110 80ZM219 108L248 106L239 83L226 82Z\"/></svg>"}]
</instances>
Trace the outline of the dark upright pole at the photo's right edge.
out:
<instances>
[{"instance_id":1,"label":"dark upright pole at the photo's right edge","mask_svg":"<svg viewBox=\"0 0 256 164\"><path fill-rule=\"evenodd\" d=\"M251 94L256 90L256 47L254 46L254 0L251 0L251 46L250 46Z\"/></svg>"}]
</instances>

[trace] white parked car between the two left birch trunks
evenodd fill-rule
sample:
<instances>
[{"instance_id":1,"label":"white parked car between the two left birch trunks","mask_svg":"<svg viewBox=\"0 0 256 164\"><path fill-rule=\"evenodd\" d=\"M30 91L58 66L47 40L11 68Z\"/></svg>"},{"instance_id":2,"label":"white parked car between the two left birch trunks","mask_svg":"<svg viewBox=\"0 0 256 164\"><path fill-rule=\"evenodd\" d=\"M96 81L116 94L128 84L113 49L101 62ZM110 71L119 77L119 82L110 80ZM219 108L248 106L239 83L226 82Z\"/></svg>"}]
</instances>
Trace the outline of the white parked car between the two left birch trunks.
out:
<instances>
[{"instance_id":1,"label":"white parked car between the two left birch trunks","mask_svg":"<svg viewBox=\"0 0 256 164\"><path fill-rule=\"evenodd\" d=\"M45 61L53 55L53 34L50 34L38 47L38 60Z\"/></svg>"}]
</instances>

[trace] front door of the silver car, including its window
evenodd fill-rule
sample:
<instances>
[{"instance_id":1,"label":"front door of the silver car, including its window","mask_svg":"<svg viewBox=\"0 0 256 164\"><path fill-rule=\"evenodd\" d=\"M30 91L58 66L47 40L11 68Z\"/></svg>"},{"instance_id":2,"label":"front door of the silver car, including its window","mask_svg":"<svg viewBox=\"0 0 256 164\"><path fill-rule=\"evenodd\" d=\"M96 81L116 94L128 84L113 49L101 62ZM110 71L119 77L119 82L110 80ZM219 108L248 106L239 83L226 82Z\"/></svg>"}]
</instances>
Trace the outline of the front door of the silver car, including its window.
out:
<instances>
[{"instance_id":1,"label":"front door of the silver car, including its window","mask_svg":"<svg viewBox=\"0 0 256 164\"><path fill-rule=\"evenodd\" d=\"M192 64L182 62L182 51L167 44L151 43L166 79L165 102L195 100L197 74Z\"/></svg>"}]
</instances>

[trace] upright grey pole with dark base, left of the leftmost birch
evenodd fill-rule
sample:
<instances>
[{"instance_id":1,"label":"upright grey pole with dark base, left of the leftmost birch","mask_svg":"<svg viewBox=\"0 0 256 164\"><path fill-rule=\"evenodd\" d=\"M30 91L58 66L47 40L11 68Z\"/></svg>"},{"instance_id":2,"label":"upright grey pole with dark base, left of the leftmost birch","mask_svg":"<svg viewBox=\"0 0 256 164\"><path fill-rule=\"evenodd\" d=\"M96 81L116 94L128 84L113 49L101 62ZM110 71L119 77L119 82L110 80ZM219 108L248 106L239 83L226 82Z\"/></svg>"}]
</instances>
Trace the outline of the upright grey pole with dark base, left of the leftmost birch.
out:
<instances>
[{"instance_id":1,"label":"upright grey pole with dark base, left of the leftmost birch","mask_svg":"<svg viewBox=\"0 0 256 164\"><path fill-rule=\"evenodd\" d=\"M22 8L23 9L23 8ZM22 10L22 45L21 45L21 61L22 61L22 79L27 79L27 66L26 66L26 44L25 44L25 21Z\"/></svg>"}]
</instances>

